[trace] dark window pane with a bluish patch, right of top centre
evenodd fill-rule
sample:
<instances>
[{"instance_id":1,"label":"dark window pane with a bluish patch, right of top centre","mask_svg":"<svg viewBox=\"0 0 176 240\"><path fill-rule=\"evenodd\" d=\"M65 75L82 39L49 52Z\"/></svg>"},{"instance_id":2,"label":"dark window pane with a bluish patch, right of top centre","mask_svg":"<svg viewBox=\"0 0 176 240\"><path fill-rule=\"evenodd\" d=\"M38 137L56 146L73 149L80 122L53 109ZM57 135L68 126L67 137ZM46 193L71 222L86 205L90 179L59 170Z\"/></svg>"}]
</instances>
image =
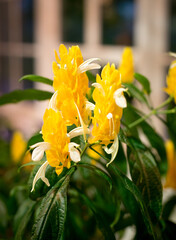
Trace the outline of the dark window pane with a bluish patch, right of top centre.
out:
<instances>
[{"instance_id":1,"label":"dark window pane with a bluish patch, right of top centre","mask_svg":"<svg viewBox=\"0 0 176 240\"><path fill-rule=\"evenodd\" d=\"M103 43L133 45L134 0L113 0L103 6Z\"/></svg>"}]
</instances>

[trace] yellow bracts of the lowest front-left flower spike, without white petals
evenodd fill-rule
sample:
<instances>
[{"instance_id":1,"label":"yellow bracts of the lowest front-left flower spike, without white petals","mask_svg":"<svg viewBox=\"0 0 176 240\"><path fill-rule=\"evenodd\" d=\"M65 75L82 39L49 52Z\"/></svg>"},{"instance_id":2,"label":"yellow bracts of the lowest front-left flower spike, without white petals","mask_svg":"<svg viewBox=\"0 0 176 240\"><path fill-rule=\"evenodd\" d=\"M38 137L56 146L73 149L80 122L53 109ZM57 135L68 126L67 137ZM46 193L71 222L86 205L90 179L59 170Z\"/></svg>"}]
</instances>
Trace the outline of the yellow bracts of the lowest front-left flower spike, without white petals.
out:
<instances>
[{"instance_id":1,"label":"yellow bracts of the lowest front-left flower spike, without white petals","mask_svg":"<svg viewBox=\"0 0 176 240\"><path fill-rule=\"evenodd\" d=\"M53 109L46 109L43 120L43 139L50 144L50 149L46 150L47 161L56 168L59 175L63 167L70 167L68 152L70 139L67 136L67 127L61 113Z\"/></svg>"}]
</instances>

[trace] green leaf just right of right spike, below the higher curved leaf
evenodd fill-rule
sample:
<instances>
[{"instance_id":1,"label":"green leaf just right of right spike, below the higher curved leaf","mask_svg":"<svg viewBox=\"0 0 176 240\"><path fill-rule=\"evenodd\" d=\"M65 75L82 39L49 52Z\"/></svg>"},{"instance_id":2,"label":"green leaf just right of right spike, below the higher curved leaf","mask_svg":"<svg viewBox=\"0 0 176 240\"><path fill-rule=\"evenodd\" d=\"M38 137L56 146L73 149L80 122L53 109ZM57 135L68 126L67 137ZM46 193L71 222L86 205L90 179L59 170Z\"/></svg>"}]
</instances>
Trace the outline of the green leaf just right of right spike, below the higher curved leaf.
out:
<instances>
[{"instance_id":1,"label":"green leaf just right of right spike, below the higher curved leaf","mask_svg":"<svg viewBox=\"0 0 176 240\"><path fill-rule=\"evenodd\" d=\"M132 97L136 98L139 102L143 102L148 107L150 107L147 98L145 97L145 94L140 91L134 84L123 83L123 85L128 88L128 92L131 94Z\"/></svg>"}]
</instances>

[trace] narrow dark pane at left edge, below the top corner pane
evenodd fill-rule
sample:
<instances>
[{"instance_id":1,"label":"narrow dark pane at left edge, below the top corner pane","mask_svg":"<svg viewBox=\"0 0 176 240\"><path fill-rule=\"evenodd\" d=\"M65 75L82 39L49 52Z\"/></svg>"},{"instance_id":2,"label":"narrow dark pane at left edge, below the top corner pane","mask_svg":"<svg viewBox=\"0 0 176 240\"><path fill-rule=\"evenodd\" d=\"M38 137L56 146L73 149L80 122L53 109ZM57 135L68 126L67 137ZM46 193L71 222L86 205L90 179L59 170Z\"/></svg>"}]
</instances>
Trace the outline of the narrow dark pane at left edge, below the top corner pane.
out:
<instances>
[{"instance_id":1,"label":"narrow dark pane at left edge, below the top corner pane","mask_svg":"<svg viewBox=\"0 0 176 240\"><path fill-rule=\"evenodd\" d=\"M0 94L9 92L9 58L0 56Z\"/></svg>"}]
</instances>

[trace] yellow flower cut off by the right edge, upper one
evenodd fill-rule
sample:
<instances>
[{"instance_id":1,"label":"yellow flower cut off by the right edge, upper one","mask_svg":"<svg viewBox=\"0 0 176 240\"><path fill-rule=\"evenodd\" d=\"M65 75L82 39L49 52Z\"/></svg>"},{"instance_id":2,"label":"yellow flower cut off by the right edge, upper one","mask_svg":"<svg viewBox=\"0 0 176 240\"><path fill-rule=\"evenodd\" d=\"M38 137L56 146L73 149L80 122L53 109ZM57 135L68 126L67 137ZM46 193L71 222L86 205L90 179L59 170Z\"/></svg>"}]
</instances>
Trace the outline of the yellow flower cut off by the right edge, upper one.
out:
<instances>
[{"instance_id":1,"label":"yellow flower cut off by the right edge, upper one","mask_svg":"<svg viewBox=\"0 0 176 240\"><path fill-rule=\"evenodd\" d=\"M176 103L176 60L173 61L169 68L169 73L167 75L167 88L164 88L165 92L174 97Z\"/></svg>"}]
</instances>

